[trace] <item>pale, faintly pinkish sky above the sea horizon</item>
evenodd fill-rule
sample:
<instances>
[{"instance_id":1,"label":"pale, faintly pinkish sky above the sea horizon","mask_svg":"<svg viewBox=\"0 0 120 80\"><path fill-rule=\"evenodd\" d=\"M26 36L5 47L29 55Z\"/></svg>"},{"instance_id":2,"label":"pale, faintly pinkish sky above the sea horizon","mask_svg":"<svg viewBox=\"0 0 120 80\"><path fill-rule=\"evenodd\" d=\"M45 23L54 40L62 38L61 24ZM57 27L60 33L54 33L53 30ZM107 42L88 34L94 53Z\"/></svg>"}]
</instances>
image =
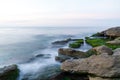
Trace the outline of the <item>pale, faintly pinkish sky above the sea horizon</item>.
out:
<instances>
[{"instance_id":1,"label":"pale, faintly pinkish sky above the sea horizon","mask_svg":"<svg viewBox=\"0 0 120 80\"><path fill-rule=\"evenodd\" d=\"M0 27L119 25L120 0L0 0Z\"/></svg>"}]
</instances>

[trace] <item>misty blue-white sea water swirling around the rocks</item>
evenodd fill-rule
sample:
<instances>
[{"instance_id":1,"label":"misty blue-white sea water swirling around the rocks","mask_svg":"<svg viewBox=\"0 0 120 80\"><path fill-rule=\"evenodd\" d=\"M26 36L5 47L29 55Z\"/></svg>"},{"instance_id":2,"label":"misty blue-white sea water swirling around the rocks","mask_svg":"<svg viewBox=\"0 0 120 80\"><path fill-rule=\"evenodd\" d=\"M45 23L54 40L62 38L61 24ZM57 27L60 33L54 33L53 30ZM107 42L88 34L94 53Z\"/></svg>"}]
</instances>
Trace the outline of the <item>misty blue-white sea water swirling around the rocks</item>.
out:
<instances>
[{"instance_id":1,"label":"misty blue-white sea water swirling around the rocks","mask_svg":"<svg viewBox=\"0 0 120 80\"><path fill-rule=\"evenodd\" d=\"M0 28L0 67L17 64L20 69L19 80L40 80L47 67L60 65L55 61L59 48L51 43L68 38L78 39L100 32L105 27L22 27ZM84 45L79 50L91 48ZM54 71L53 71L54 72ZM45 76L45 75L44 75ZM39 78L38 78L39 77Z\"/></svg>"}]
</instances>

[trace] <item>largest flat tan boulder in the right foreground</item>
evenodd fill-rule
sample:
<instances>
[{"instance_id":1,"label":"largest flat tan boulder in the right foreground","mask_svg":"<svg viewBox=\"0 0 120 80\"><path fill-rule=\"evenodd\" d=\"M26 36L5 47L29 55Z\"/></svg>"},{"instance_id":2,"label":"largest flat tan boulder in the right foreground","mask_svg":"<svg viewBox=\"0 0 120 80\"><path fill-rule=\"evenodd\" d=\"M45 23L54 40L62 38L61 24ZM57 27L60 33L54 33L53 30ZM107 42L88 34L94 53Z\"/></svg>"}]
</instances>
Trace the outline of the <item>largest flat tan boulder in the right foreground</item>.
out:
<instances>
[{"instance_id":1,"label":"largest flat tan boulder in the right foreground","mask_svg":"<svg viewBox=\"0 0 120 80\"><path fill-rule=\"evenodd\" d=\"M104 53L85 59L67 60L63 62L61 69L98 77L120 78L120 55L112 56Z\"/></svg>"}]
</instances>

